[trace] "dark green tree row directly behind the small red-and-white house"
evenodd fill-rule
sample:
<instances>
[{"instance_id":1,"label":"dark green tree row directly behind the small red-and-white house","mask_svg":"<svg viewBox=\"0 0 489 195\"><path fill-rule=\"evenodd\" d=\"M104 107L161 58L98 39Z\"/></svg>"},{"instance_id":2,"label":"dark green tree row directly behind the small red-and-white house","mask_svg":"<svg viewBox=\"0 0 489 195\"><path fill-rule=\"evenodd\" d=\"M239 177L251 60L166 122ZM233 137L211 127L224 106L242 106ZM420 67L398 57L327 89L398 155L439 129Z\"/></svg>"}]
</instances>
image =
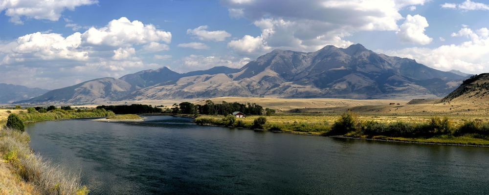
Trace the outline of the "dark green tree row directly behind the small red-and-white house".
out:
<instances>
[{"instance_id":1,"label":"dark green tree row directly behind the small red-and-white house","mask_svg":"<svg viewBox=\"0 0 489 195\"><path fill-rule=\"evenodd\" d=\"M275 110L267 108L267 113L275 113ZM204 105L194 105L189 102L174 104L173 108L167 108L165 113L181 114L206 114L206 115L228 115L235 111L240 111L245 115L262 115L263 107L255 103L240 104L237 102L214 104L211 100L205 101Z\"/></svg>"}]
</instances>

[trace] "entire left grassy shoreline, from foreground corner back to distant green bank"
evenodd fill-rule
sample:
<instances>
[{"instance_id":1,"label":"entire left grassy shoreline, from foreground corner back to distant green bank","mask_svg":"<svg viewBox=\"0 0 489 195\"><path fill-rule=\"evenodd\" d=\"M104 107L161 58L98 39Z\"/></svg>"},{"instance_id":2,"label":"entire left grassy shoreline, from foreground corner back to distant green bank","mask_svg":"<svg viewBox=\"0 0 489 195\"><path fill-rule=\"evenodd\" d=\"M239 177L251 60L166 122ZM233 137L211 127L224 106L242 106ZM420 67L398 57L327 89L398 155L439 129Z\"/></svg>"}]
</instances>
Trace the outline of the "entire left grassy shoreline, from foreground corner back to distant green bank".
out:
<instances>
[{"instance_id":1,"label":"entire left grassy shoreline, from foreground corner back to distant green bank","mask_svg":"<svg viewBox=\"0 0 489 195\"><path fill-rule=\"evenodd\" d=\"M46 113L27 110L12 110L24 123L74 118L110 117L115 114L105 109L63 110ZM86 195L89 190L80 183L80 176L51 164L30 148L26 132L11 130L0 120L0 194L49 194Z\"/></svg>"}]
</instances>

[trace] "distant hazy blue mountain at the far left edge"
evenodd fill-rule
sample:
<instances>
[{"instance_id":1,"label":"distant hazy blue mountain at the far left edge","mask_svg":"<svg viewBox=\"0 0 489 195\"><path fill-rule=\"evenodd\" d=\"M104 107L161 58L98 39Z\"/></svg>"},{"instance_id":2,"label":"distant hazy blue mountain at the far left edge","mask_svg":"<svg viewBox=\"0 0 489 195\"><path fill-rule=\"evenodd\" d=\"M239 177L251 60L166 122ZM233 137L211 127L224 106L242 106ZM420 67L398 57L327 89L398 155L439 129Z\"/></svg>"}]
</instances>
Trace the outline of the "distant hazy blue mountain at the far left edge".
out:
<instances>
[{"instance_id":1,"label":"distant hazy blue mountain at the far left edge","mask_svg":"<svg viewBox=\"0 0 489 195\"><path fill-rule=\"evenodd\" d=\"M0 104L8 104L30 99L48 92L47 89L29 88L19 85L0 83Z\"/></svg>"}]
</instances>

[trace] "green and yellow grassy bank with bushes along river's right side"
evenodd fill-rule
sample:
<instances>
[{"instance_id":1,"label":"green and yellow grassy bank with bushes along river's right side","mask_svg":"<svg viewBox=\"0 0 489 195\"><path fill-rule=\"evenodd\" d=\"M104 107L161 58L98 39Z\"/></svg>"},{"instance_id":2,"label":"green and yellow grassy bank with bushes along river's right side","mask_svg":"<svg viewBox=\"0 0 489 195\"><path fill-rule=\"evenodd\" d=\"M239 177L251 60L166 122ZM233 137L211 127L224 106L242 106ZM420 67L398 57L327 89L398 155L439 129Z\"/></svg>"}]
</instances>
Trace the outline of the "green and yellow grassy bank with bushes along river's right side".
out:
<instances>
[{"instance_id":1,"label":"green and yellow grassy bank with bushes along river's right side","mask_svg":"<svg viewBox=\"0 0 489 195\"><path fill-rule=\"evenodd\" d=\"M483 123L482 119L480 119L481 116L479 115L465 116L463 118L460 116L456 116L454 117L454 119L447 119L447 121L445 121L445 124L443 123L443 120L441 120L439 117L433 117L429 115L420 115L414 118L392 115L387 115L386 117L379 117L377 115L361 117L357 116L355 119L352 119L355 121L351 121L352 124L350 124L356 127L351 127L353 129L346 130L340 133L333 133L332 131L333 126L340 119L342 119L342 116L339 115L278 114L274 116L267 116L267 122L261 128L257 128L253 125L253 121L258 117L259 116L249 116L247 118L237 118L233 124L229 124L229 122L226 121L226 119L222 116L202 115L195 118L195 122L199 125L236 127L253 130L260 129L274 132L288 132L296 134L321 135L375 141L394 141L416 144L443 144L456 146L489 146L489 122ZM361 118L362 120L359 120L359 118ZM396 129L396 125L403 126ZM379 132L372 130L373 128L377 128ZM400 132L403 132L404 135L408 135L409 133L411 134L409 134L410 136L392 136L391 134L396 133L388 131L390 130L389 128L399 130ZM418 128L419 130L416 128ZM406 131L406 129L408 133L404 132ZM411 130L412 132L409 130Z\"/></svg>"}]
</instances>

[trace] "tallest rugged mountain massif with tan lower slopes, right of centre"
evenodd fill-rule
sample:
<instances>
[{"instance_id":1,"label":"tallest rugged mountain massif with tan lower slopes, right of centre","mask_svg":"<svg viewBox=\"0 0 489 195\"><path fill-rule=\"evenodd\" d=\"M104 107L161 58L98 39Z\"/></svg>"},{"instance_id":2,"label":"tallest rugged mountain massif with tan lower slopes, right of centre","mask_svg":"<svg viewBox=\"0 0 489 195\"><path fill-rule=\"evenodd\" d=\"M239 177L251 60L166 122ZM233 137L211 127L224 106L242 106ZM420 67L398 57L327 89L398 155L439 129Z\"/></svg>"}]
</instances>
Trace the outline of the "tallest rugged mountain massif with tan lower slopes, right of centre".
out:
<instances>
[{"instance_id":1,"label":"tallest rugged mountain massif with tan lower slopes, right of centre","mask_svg":"<svg viewBox=\"0 0 489 195\"><path fill-rule=\"evenodd\" d=\"M448 94L463 78L411 59L377 54L360 44L330 45L310 53L274 50L236 73L182 77L126 98L435 98Z\"/></svg>"}]
</instances>

